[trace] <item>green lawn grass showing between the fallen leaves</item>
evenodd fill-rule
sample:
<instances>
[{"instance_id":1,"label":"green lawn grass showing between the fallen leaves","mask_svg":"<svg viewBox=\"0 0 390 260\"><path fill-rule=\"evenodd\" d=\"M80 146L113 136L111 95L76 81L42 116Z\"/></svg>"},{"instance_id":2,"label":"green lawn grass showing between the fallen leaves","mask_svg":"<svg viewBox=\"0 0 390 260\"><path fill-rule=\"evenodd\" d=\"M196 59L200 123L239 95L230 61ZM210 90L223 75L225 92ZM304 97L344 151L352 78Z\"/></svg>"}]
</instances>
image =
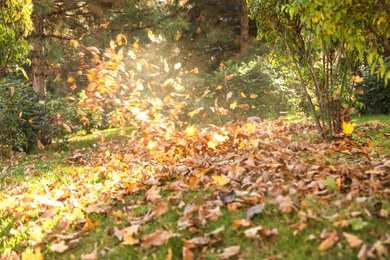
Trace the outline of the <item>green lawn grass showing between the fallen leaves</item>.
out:
<instances>
[{"instance_id":1,"label":"green lawn grass showing between the fallen leaves","mask_svg":"<svg viewBox=\"0 0 390 260\"><path fill-rule=\"evenodd\" d=\"M294 118L289 117L289 120L292 119ZM390 154L390 141L386 135L390 132L390 116L362 116L354 122L362 126L356 127L352 138L357 142L370 142L370 146L373 147L370 156L385 158L386 155ZM365 127L365 124L370 122L385 124L383 128L377 129ZM359 135L359 132L363 132L364 136ZM117 143L126 140L126 137L119 136L119 130L116 129L102 131L100 134L105 135L107 140L113 140ZM310 142L311 139L312 137L307 137L305 141ZM179 233L180 237L171 237L164 245L152 246L146 249L139 244L133 246L121 245L121 241L114 235L114 229L120 230L130 226L129 216L138 218L147 216L153 211L158 202L150 202L145 199L145 194L150 189L150 185L137 184L140 189L132 192L129 188L132 179L126 172L110 172L108 165L104 165L104 167L107 167L107 172L104 170L97 171L94 165L80 165L77 162L70 163L67 161L77 149L86 149L90 152L88 156L91 156L92 151L96 149L94 145L100 147L97 144L99 140L100 137L97 134L73 137L70 140L71 150L56 152L48 149L36 154L26 155L19 159L17 164L10 166L7 173L1 176L0 255L7 248L12 248L14 252L21 254L26 248L33 247L31 241L36 240L31 239L31 236L34 234L35 226L39 226L37 236L40 236L43 243L42 254L45 259L81 259L81 255L91 253L94 250L95 243L97 243L99 249L99 259L163 260L166 259L170 251L172 251L172 259L181 259L185 240L201 237L221 227L224 227L221 233L210 236L213 241L212 245L197 246L191 249L195 258L220 259L219 255L224 248L239 245L241 247L240 256L243 259L335 259L336 257L356 259L359 249L352 249L348 246L342 232L354 234L368 245L373 245L390 233L389 219L370 213L377 210L375 205L378 205L378 203L381 203L382 210L390 210L386 194L378 193L374 194L375 196L369 196L366 191L362 191L362 194L354 195L354 198L357 196L367 197L366 200L362 199L362 202L356 202L355 199L347 200L346 195L349 187L360 184L356 178L349 180L345 177L342 183L345 190L341 189L339 192L334 191L327 195L317 196L303 190L298 194L289 195L288 185L290 183L288 181L290 177L287 176L288 178L285 177L286 182L284 184L275 186L277 187L276 191L270 191L269 193L267 189L250 191L257 193L266 201L264 211L253 217L250 227L261 226L263 230L276 229L277 235L260 235L258 238L249 238L245 236L244 231L250 227L233 229L235 220L245 218L245 213L251 206L250 203L244 203L237 211L230 211L226 205L221 205L221 217L215 220L207 219L205 225L196 222L192 228L178 229L177 223L187 205L202 206L207 201L216 200L218 189L207 189L204 183L200 182L198 189L188 191L170 190L162 185L160 195L168 205L168 212L153 217L152 220L142 224L141 231L133 236L134 238L141 238L143 235L156 231L168 230ZM298 140L298 138L294 137L293 140ZM301 162L310 163L315 161L312 158L315 155L311 152L301 153L300 156L299 160ZM332 157L329 155L327 158L329 164L327 165L347 164L350 159L348 156L337 154ZM353 163L364 160L364 155L357 156L357 158L354 157ZM286 162L293 163L291 161ZM6 163L0 163L0 169L6 167ZM35 164L37 172L26 175L25 167L31 164ZM256 174L260 174L265 169L259 169L258 171L260 172L252 174L257 176ZM207 174L218 174L218 172ZM272 175L272 172L270 174ZM348 170L345 172L345 176L351 174ZM258 177L256 178L253 179L253 182L258 180ZM274 181L273 175L270 178ZM308 184L310 184L310 181L305 183L305 185ZM19 193L16 194L15 191ZM51 207L39 206L40 200L34 201L34 198L35 196L42 196L43 198L50 194L52 200L67 201L69 204L61 209L53 208L55 217L42 219L40 216L50 210ZM297 209L290 213L280 212L279 206L275 203L275 198L278 195L290 196L291 201L296 203ZM175 196L179 199L172 199ZM12 198L14 199L12 200ZM249 193L239 199L249 201L250 198L252 196ZM31 200L31 203L27 203L29 200ZM9 208L10 201L15 205L23 202L20 207L11 207L20 212L20 219L15 218L15 212L9 211L11 210ZM305 201L305 203L302 201ZM108 210L100 213L87 212L88 206L97 202L109 205ZM184 206L179 208L180 202L184 203ZM29 207L26 208L26 206ZM213 206L213 208L215 207ZM122 217L113 216L114 211L121 211ZM336 213L339 214L339 217L331 220L326 218ZM198 212L194 213L195 219L198 214ZM308 214L314 214L315 217L307 217ZM84 217L88 217L92 222L98 222L99 224L80 236L78 241L73 243L64 253L52 252L50 246L57 238L50 234L55 233L56 230L59 232L58 235L81 232L84 223L79 221ZM305 218L307 219L304 220ZM356 221L366 223L366 225L335 226L337 221L351 219L358 219ZM307 226L301 231L295 231L291 227L297 223L306 223ZM62 227L66 224L68 224L67 227ZM328 232L336 230L339 242L329 250L320 251L318 250L321 242L320 235L324 230ZM66 243L68 244L69 241L66 241Z\"/></svg>"}]
</instances>

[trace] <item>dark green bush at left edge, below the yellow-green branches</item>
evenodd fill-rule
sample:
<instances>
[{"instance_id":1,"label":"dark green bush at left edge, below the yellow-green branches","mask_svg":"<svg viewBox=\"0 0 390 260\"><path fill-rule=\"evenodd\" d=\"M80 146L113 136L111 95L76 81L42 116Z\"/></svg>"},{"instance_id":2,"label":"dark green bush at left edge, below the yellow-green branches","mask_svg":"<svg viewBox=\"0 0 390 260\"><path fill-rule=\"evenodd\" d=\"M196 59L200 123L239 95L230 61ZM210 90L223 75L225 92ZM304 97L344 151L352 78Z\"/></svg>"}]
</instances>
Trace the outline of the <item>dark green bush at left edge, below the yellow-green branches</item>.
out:
<instances>
[{"instance_id":1,"label":"dark green bush at left edge, below the yellow-green branches","mask_svg":"<svg viewBox=\"0 0 390 260\"><path fill-rule=\"evenodd\" d=\"M15 78L4 78L0 93L0 155L31 150L45 122L44 106L29 84Z\"/></svg>"}]
</instances>

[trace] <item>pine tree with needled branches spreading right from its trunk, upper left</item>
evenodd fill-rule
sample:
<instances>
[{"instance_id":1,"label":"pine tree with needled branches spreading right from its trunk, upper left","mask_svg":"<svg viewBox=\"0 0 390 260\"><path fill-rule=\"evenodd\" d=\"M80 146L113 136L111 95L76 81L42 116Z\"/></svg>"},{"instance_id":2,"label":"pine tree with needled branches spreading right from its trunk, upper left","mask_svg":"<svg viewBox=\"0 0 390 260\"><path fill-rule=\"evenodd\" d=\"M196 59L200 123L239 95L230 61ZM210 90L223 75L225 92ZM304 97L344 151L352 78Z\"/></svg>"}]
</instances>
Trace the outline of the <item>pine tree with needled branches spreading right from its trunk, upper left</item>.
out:
<instances>
[{"instance_id":1,"label":"pine tree with needled branches spreading right from its trunk, upper left","mask_svg":"<svg viewBox=\"0 0 390 260\"><path fill-rule=\"evenodd\" d=\"M72 43L105 47L118 33L130 37L159 21L154 1L138 0L34 0L32 83L45 96L53 86L65 86L68 74L77 73L83 53L75 53ZM58 90L57 90L58 91ZM63 90L61 90L63 91Z\"/></svg>"}]
</instances>

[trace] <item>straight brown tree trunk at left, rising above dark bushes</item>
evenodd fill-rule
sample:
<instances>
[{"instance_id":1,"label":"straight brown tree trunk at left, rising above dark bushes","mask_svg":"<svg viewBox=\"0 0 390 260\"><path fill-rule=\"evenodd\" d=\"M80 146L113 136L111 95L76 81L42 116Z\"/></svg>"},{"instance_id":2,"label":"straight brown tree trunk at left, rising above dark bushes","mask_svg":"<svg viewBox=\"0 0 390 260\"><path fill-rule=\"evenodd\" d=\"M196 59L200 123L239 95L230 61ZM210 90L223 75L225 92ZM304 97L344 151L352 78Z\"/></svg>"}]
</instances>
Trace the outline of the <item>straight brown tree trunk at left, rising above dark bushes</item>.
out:
<instances>
[{"instance_id":1,"label":"straight brown tree trunk at left, rising above dark bushes","mask_svg":"<svg viewBox=\"0 0 390 260\"><path fill-rule=\"evenodd\" d=\"M39 97L44 97L46 94L46 78L47 78L47 66L43 59L44 51L44 33L43 23L44 19L41 16L34 15L32 17L34 23L34 31L32 33L31 51L32 60L32 81L33 89Z\"/></svg>"}]
</instances>

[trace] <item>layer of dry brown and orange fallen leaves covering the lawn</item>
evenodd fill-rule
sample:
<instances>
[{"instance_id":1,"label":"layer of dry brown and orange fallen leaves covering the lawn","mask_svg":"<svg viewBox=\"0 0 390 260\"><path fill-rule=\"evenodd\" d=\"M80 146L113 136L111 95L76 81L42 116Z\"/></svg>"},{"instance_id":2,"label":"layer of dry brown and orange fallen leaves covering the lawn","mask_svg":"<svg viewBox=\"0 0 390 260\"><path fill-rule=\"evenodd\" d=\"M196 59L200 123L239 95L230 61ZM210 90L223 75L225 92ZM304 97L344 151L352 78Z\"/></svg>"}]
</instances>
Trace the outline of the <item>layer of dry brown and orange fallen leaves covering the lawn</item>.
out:
<instances>
[{"instance_id":1,"label":"layer of dry brown and orange fallen leaves covering the lawn","mask_svg":"<svg viewBox=\"0 0 390 260\"><path fill-rule=\"evenodd\" d=\"M292 235L303 232L310 220L331 223L332 229L318 230L306 239L316 241L319 251L341 243L356 249L359 259L389 257L389 230L376 235L373 243L354 232L376 218L389 223L388 204L384 207L382 202L389 200L390 158L369 141L345 137L326 142L314 133L312 123L287 124L282 119L191 126L184 132L170 126L101 142L96 149L74 150L62 164L73 167L67 173L71 183L42 182L42 189L29 192L28 182L21 182L2 190L0 213L15 221L6 236L25 233L25 245L33 248L23 252L7 248L2 258L36 254L39 259L45 247L54 254L66 253L94 229L104 228L94 215L107 214L117 224L109 233L121 246L148 249L177 237L183 241L183 259L202 258L207 251L221 259L249 257L240 245L221 247L225 226L205 231L225 214L233 214L229 225L239 231L240 239L260 244L271 237L281 239L276 228L256 225L254 220L284 214L296 216L297 222L288 228ZM75 166L85 171L78 172ZM26 175L36 171L33 165L26 167ZM96 181L87 181L92 179ZM183 194L194 191L203 195L185 201ZM131 199L140 194L143 201ZM315 206L309 202L313 198ZM353 203L358 206L352 208ZM138 207L149 210L133 214ZM330 215L328 207L353 211ZM143 225L170 211L178 214L177 229L165 225L144 233ZM43 231L48 220L57 224ZM98 238L96 242L82 259L109 253ZM171 257L170 248L167 259Z\"/></svg>"}]
</instances>

